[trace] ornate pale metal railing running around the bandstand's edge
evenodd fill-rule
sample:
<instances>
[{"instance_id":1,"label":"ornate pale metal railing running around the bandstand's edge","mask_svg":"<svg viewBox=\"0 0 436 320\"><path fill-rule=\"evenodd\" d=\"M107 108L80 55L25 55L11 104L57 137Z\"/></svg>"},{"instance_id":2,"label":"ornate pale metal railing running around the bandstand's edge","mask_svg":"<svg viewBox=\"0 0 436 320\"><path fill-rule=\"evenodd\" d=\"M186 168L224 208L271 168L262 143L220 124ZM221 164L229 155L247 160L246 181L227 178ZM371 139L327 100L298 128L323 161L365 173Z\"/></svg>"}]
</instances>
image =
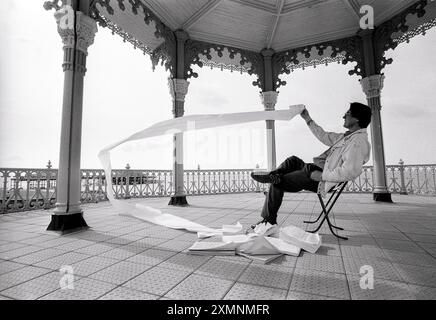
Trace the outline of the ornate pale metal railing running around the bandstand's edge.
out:
<instances>
[{"instance_id":1,"label":"ornate pale metal railing running around the bandstand's edge","mask_svg":"<svg viewBox=\"0 0 436 320\"><path fill-rule=\"evenodd\" d=\"M268 185L250 178L253 169L185 170L187 195L263 192ZM107 200L103 170L81 170L81 201ZM436 165L399 165L386 167L388 188L392 193L436 196ZM49 209L56 202L57 170L0 168L0 213ZM345 192L371 193L373 168L364 167L360 177L349 183ZM112 187L118 199L168 197L173 194L171 170L112 170Z\"/></svg>"}]
</instances>

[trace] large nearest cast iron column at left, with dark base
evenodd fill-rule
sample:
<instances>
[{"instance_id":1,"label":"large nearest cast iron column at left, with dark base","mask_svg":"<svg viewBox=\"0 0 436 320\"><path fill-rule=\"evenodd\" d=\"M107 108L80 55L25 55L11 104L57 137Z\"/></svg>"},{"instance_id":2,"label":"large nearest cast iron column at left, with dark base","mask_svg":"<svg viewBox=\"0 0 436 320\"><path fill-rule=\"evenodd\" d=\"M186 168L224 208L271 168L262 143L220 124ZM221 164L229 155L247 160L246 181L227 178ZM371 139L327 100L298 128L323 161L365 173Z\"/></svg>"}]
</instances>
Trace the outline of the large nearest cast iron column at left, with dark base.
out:
<instances>
[{"instance_id":1,"label":"large nearest cast iron column at left, with dark base","mask_svg":"<svg viewBox=\"0 0 436 320\"><path fill-rule=\"evenodd\" d=\"M50 9L50 5L45 7ZM78 10L78 1L55 8L64 45L64 93L56 208L47 230L66 231L87 227L80 207L83 80L88 47L94 42L97 24Z\"/></svg>"}]
</instances>

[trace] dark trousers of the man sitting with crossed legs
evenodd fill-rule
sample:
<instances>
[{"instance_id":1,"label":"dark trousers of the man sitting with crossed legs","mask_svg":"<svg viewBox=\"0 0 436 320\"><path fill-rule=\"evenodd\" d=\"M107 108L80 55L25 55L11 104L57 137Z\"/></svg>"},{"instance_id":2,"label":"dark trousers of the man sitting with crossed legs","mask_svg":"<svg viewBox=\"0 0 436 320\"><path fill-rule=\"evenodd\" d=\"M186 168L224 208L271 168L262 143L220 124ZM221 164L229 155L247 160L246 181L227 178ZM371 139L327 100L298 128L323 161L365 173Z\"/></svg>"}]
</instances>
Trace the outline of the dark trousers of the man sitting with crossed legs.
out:
<instances>
[{"instance_id":1,"label":"dark trousers of the man sitting with crossed legs","mask_svg":"<svg viewBox=\"0 0 436 320\"><path fill-rule=\"evenodd\" d=\"M280 175L280 183L270 185L262 209L262 218L271 224L277 223L277 212L282 205L285 192L301 190L317 192L319 182L310 178L313 171L322 171L322 169L313 163L305 163L295 156L289 157L276 170L271 171Z\"/></svg>"}]
</instances>

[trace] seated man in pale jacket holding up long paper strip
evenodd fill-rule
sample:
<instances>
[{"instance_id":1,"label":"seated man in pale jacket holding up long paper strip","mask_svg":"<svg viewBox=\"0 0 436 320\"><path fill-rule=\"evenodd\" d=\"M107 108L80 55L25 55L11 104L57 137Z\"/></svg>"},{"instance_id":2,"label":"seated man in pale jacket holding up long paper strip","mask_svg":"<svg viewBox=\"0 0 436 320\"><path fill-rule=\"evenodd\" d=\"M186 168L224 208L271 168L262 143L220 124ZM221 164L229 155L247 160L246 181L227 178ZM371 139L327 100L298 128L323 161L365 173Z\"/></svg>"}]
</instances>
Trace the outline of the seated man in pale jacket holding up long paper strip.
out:
<instances>
[{"instance_id":1,"label":"seated man in pale jacket holding up long paper strip","mask_svg":"<svg viewBox=\"0 0 436 320\"><path fill-rule=\"evenodd\" d=\"M253 226L257 233L269 235L276 231L277 212L284 192L328 192L339 182L357 178L362 173L363 165L369 160L370 144L366 128L371 122L371 109L368 106L351 103L343 117L344 127L348 129L345 133L325 132L312 120L306 109L302 111L301 117L315 137L330 148L314 158L313 163L305 163L292 156L276 170L251 174L254 180L271 184L262 209L263 220ZM320 183L321 181L324 183ZM275 225L274 228L265 229L267 223Z\"/></svg>"}]
</instances>

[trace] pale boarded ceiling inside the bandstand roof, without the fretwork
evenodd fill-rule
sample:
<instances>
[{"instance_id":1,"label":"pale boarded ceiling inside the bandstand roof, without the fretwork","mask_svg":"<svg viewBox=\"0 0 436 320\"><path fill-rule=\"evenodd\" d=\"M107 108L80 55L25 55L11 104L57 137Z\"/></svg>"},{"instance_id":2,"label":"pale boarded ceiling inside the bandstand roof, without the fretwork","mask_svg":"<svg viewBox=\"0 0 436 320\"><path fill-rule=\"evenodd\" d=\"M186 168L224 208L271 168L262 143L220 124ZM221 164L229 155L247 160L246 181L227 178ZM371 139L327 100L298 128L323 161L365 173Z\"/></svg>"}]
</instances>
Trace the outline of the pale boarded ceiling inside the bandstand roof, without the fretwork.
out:
<instances>
[{"instance_id":1,"label":"pale boarded ceiling inside the bandstand roof, without the fretwork","mask_svg":"<svg viewBox=\"0 0 436 320\"><path fill-rule=\"evenodd\" d=\"M144 28L131 2L108 1L114 14L103 16L149 48L158 45ZM193 40L250 51L282 51L352 36L359 30L361 6L371 5L375 24L389 20L416 0L141 0L171 30ZM97 4L97 8L100 7ZM139 10L141 11L141 10ZM139 12L141 14L141 12Z\"/></svg>"}]
</instances>

